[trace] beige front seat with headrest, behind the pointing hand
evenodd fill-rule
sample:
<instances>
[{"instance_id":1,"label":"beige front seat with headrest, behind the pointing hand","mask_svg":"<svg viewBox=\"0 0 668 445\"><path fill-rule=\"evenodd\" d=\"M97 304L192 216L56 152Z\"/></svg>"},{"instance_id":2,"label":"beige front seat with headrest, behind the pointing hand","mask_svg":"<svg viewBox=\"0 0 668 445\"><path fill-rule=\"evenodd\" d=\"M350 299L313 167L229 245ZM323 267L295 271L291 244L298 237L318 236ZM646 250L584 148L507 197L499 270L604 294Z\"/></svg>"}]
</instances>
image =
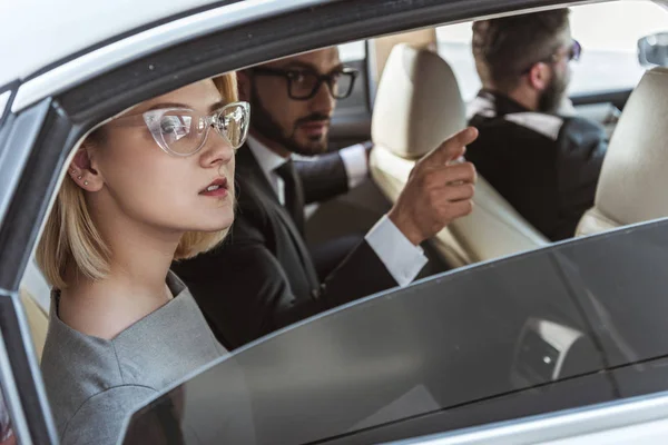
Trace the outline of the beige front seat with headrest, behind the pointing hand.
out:
<instances>
[{"instance_id":1,"label":"beige front seat with headrest, behind the pointing hand","mask_svg":"<svg viewBox=\"0 0 668 445\"><path fill-rule=\"evenodd\" d=\"M450 66L436 53L400 43L379 83L372 118L371 174L395 201L415 161L466 126ZM533 249L549 241L479 177L473 212L432 243L453 267Z\"/></svg>"}]
</instances>

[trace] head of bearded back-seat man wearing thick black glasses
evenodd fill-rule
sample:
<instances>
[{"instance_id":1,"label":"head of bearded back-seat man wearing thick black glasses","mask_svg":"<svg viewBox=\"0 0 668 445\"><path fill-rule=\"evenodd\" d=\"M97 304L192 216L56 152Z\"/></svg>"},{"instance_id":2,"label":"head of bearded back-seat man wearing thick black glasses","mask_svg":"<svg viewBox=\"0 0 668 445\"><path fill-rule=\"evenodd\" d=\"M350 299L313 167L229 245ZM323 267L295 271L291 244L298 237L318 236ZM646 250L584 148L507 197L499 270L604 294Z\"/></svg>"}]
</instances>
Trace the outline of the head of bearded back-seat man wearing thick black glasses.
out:
<instances>
[{"instance_id":1,"label":"head of bearded back-seat man wearing thick black glasses","mask_svg":"<svg viewBox=\"0 0 668 445\"><path fill-rule=\"evenodd\" d=\"M326 150L336 97L350 92L354 73L334 47L243 70L238 80L252 134L283 154L311 156Z\"/></svg>"}]
</instances>

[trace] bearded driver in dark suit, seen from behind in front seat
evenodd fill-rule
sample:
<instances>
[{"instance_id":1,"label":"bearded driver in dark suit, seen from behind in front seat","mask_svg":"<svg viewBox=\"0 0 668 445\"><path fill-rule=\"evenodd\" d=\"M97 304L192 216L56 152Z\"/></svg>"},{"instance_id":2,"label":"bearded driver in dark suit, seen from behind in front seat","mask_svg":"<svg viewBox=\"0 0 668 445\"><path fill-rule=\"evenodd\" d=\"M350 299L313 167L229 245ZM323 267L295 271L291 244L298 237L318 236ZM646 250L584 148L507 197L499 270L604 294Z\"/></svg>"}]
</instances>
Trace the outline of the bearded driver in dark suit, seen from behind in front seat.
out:
<instances>
[{"instance_id":1,"label":"bearded driver in dark suit, seen from behind in front seat","mask_svg":"<svg viewBox=\"0 0 668 445\"><path fill-rule=\"evenodd\" d=\"M549 239L574 236L608 142L566 93L582 50L568 9L477 21L472 47L483 88L468 107L480 137L466 159Z\"/></svg>"}]
</instances>

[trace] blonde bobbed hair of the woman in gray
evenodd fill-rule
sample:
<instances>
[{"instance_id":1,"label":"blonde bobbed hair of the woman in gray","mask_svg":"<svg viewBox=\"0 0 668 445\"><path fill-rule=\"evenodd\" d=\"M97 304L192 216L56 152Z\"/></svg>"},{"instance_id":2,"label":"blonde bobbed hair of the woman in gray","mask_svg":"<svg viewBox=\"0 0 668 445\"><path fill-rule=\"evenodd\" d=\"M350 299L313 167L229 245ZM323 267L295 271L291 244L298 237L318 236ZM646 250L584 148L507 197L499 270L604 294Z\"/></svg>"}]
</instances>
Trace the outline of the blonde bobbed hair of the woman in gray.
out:
<instances>
[{"instance_id":1,"label":"blonde bobbed hair of the woman in gray","mask_svg":"<svg viewBox=\"0 0 668 445\"><path fill-rule=\"evenodd\" d=\"M227 102L238 100L236 75L227 73L213 80ZM88 136L86 142L95 146L95 141L104 137L101 127ZM218 245L226 235L227 229L188 231L180 239L174 259L191 258L206 251ZM109 270L109 248L90 217L84 190L69 175L66 175L58 191L36 256L45 277L58 289L67 286L66 274L70 267L91 279L101 279Z\"/></svg>"}]
</instances>

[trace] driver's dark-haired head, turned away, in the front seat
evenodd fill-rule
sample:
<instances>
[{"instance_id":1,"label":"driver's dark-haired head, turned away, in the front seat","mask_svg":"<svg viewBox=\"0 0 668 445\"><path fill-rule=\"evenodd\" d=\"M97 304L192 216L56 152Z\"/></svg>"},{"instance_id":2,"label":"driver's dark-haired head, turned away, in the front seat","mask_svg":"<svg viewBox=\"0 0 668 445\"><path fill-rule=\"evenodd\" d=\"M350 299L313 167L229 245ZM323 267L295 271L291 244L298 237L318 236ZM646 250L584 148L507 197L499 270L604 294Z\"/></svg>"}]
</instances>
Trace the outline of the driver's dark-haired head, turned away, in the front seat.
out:
<instances>
[{"instance_id":1,"label":"driver's dark-haired head, turned away, in the front seat","mask_svg":"<svg viewBox=\"0 0 668 445\"><path fill-rule=\"evenodd\" d=\"M538 111L557 110L570 82L569 61L579 55L568 9L473 23L473 56L483 87L533 95Z\"/></svg>"}]
</instances>

